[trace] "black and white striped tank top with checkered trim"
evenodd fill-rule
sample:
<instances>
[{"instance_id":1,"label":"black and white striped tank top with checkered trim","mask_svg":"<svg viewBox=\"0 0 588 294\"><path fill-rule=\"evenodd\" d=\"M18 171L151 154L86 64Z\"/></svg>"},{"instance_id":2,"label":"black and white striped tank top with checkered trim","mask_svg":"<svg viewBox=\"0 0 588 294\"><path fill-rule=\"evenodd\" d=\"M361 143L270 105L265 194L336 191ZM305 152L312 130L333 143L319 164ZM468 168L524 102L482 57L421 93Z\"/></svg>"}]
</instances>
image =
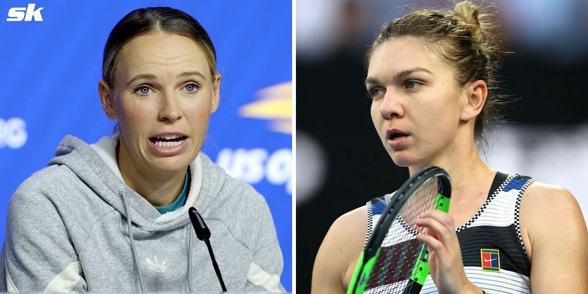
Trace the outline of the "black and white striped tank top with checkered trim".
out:
<instances>
[{"instance_id":1,"label":"black and white striped tank top with checkered trim","mask_svg":"<svg viewBox=\"0 0 588 294\"><path fill-rule=\"evenodd\" d=\"M482 208L456 229L466 276L487 293L531 293L531 264L520 236L519 211L523 193L533 181L527 176L497 173ZM367 203L366 242L385 208L381 199ZM383 199L389 203L390 195ZM372 292L377 288L364 293ZM430 275L420 293L437 293Z\"/></svg>"}]
</instances>

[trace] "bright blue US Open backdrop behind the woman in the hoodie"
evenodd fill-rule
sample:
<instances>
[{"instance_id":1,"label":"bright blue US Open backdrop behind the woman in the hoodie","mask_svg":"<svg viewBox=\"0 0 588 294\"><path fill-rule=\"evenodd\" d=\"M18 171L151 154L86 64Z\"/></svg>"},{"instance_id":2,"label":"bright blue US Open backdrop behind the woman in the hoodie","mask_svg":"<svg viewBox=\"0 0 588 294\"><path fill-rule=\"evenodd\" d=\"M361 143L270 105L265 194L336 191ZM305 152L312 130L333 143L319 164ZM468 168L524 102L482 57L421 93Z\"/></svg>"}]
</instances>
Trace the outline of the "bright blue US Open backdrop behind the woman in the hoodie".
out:
<instances>
[{"instance_id":1,"label":"bright blue US Open backdrop behind the woman in the hoodie","mask_svg":"<svg viewBox=\"0 0 588 294\"><path fill-rule=\"evenodd\" d=\"M282 283L291 291L292 3L32 3L0 3L0 240L12 193L46 165L65 135L89 143L112 135L113 122L98 96L102 51L112 27L133 9L172 6L209 32L223 76L203 151L265 196L284 255Z\"/></svg>"}]
</instances>

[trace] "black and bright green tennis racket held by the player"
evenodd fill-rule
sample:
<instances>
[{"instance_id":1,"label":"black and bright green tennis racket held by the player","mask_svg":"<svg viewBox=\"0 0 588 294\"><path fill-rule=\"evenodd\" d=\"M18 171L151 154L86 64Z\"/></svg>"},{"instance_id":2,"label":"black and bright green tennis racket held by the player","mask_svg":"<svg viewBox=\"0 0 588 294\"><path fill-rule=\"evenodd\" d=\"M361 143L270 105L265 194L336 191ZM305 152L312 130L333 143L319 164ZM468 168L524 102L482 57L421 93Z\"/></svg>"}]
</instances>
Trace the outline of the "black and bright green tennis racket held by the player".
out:
<instances>
[{"instance_id":1,"label":"black and bright green tennis racket held by the player","mask_svg":"<svg viewBox=\"0 0 588 294\"><path fill-rule=\"evenodd\" d=\"M419 293L429 275L428 247L416 239L420 213L449 211L451 180L436 166L422 169L394 193L382 212L347 290L362 293Z\"/></svg>"}]
</instances>

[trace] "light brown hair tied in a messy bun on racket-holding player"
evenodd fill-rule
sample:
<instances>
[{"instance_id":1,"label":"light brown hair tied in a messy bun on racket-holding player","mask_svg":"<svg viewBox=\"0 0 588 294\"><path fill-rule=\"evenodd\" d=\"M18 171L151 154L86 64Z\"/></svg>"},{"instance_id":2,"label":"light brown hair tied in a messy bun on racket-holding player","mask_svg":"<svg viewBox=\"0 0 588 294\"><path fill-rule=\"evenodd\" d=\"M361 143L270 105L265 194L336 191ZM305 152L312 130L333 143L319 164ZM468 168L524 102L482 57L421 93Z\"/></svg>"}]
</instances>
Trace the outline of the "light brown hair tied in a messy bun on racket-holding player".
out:
<instances>
[{"instance_id":1,"label":"light brown hair tied in a messy bun on racket-holding player","mask_svg":"<svg viewBox=\"0 0 588 294\"><path fill-rule=\"evenodd\" d=\"M483 80L488 85L485 106L476 117L474 138L485 143L486 125L502 121L500 105L506 96L496 93L498 46L487 30L491 24L488 14L480 14L478 6L469 1L456 4L453 12L421 10L385 25L366 54L366 68L375 48L390 39L410 37L423 41L455 69L459 88L469 82ZM496 57L496 58L495 58Z\"/></svg>"}]
</instances>

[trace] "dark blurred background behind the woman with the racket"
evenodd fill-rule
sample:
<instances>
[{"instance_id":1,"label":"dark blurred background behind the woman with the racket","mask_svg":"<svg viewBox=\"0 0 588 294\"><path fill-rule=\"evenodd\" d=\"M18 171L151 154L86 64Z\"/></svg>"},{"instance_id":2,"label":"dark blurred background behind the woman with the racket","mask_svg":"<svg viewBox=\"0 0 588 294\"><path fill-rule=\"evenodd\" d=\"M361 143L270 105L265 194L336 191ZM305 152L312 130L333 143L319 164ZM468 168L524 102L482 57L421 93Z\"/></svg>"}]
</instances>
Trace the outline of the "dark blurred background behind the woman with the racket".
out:
<instances>
[{"instance_id":1,"label":"dark blurred background behind the woman with the racket","mask_svg":"<svg viewBox=\"0 0 588 294\"><path fill-rule=\"evenodd\" d=\"M332 222L408 178L369 115L363 56L386 22L448 1L296 1L296 289L310 292ZM480 1L474 1L480 4ZM495 0L502 80L515 102L483 158L502 172L564 186L588 214L588 2Z\"/></svg>"}]
</instances>

